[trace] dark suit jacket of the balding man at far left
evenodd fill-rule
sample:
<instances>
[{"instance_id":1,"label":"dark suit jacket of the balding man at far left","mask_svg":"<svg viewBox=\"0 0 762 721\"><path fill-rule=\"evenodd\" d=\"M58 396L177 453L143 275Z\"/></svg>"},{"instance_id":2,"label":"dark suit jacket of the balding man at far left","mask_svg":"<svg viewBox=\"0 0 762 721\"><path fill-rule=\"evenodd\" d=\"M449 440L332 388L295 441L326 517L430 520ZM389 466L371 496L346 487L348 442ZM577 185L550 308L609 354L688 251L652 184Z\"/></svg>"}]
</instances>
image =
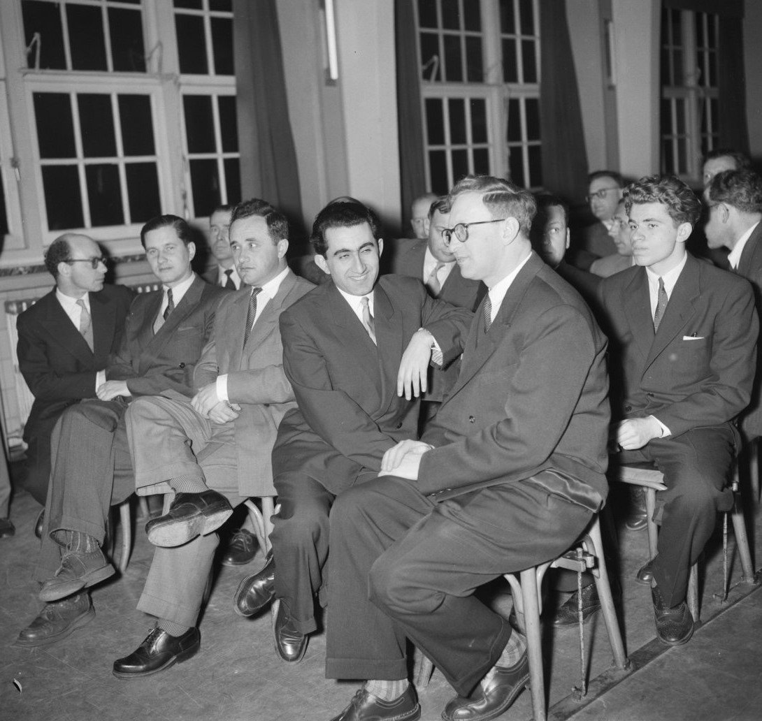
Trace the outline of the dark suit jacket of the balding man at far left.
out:
<instances>
[{"instance_id":1,"label":"dark suit jacket of the balding man at far left","mask_svg":"<svg viewBox=\"0 0 762 721\"><path fill-rule=\"evenodd\" d=\"M34 395L24 426L27 443L37 438L48 443L67 406L95 397L95 377L120 345L133 295L124 286L90 294L93 350L56 299L56 289L18 316L18 365Z\"/></svg>"}]
</instances>

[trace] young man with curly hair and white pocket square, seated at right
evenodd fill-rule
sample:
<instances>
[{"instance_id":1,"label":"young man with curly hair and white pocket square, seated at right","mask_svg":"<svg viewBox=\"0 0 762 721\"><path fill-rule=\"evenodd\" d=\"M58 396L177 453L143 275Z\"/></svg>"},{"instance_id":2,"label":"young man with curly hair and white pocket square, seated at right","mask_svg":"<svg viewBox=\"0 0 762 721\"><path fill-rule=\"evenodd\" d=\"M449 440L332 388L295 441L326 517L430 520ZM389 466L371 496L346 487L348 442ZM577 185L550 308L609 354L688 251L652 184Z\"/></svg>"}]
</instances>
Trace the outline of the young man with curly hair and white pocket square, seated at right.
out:
<instances>
[{"instance_id":1,"label":"young man with curly hair and white pocket square, seated at right","mask_svg":"<svg viewBox=\"0 0 762 721\"><path fill-rule=\"evenodd\" d=\"M687 253L701 205L685 183L643 177L625 203L636 266L600 284L615 435L621 462L651 461L664 474L658 553L639 580L652 584L658 637L677 645L693 634L690 566L733 503L734 420L754 381L757 311L748 281Z\"/></svg>"}]
</instances>

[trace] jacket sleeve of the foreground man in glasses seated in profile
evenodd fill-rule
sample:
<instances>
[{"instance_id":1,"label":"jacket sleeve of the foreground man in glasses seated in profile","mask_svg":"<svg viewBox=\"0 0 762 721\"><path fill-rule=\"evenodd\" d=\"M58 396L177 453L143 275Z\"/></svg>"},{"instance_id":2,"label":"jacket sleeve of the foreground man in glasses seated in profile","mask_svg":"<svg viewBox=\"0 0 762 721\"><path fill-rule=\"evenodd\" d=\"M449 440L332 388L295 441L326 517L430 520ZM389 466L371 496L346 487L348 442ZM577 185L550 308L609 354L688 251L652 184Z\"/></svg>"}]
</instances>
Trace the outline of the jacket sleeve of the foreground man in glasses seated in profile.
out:
<instances>
[{"instance_id":1,"label":"jacket sleeve of the foreground man in glasses seated in profile","mask_svg":"<svg viewBox=\"0 0 762 721\"><path fill-rule=\"evenodd\" d=\"M603 363L604 349L596 352L580 311L569 305L550 308L531 330L517 353L505 344L498 350L506 356L503 370L473 381L482 384L485 393L504 396L504 417L427 451L418 473L421 493L533 472L558 445L591 368L600 374L593 381L606 383L603 366L597 365Z\"/></svg>"}]
</instances>

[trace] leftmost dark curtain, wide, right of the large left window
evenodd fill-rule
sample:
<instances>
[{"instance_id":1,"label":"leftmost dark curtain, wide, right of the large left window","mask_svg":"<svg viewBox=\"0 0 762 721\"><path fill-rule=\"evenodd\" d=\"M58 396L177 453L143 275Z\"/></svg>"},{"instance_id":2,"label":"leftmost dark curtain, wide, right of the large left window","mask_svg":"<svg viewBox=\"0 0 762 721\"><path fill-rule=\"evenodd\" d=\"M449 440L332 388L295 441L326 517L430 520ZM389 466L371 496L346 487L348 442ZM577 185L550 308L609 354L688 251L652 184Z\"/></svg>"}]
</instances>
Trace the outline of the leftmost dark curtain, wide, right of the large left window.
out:
<instances>
[{"instance_id":1,"label":"leftmost dark curtain, wide, right of the large left window","mask_svg":"<svg viewBox=\"0 0 762 721\"><path fill-rule=\"evenodd\" d=\"M233 0L243 198L272 203L306 238L275 0Z\"/></svg>"}]
</instances>

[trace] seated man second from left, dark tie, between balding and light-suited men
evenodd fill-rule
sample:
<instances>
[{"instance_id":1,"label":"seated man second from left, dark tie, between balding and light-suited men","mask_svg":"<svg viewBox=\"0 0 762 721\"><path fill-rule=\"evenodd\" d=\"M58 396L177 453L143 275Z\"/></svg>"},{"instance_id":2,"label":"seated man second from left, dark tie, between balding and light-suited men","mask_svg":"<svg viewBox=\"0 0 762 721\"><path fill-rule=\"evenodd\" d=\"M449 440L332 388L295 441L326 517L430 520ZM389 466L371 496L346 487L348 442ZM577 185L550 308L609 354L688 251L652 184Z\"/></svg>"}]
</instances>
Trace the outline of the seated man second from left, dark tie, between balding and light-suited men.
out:
<instances>
[{"instance_id":1,"label":"seated man second from left, dark tie, between balding and light-suited men","mask_svg":"<svg viewBox=\"0 0 762 721\"><path fill-rule=\"evenodd\" d=\"M190 228L176 215L143 226L146 258L162 289L130 306L117 353L96 393L66 409L53 430L43 542L35 578L46 606L17 644L40 646L65 638L94 616L85 589L114 568L101 550L109 508L130 496L135 481L124 413L140 395L193 395L192 377L225 291L191 270Z\"/></svg>"}]
</instances>

